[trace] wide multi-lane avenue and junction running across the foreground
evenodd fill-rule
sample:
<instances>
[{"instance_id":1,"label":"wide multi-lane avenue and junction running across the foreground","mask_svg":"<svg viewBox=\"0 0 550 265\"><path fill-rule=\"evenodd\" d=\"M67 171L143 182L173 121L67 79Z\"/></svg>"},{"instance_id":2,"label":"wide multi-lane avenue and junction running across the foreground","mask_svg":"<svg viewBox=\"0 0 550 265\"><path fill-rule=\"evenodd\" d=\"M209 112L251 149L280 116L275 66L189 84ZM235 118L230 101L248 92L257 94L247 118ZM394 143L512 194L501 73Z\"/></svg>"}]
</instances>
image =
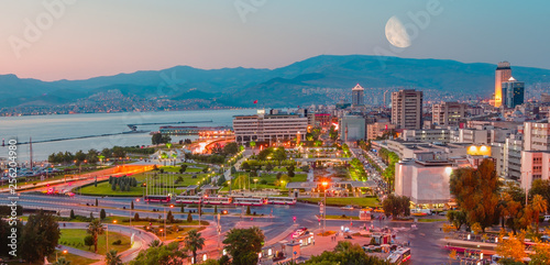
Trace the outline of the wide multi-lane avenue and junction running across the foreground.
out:
<instances>
[{"instance_id":1,"label":"wide multi-lane avenue and junction running across the foreground","mask_svg":"<svg viewBox=\"0 0 550 265\"><path fill-rule=\"evenodd\" d=\"M108 214L114 216L127 216L131 214L129 209L121 209L127 206L129 208L130 201L134 200L132 198L99 198L100 207L89 207L86 203L92 205L95 202L96 197L87 197L87 196L75 196L73 198L68 197L54 197L54 196L45 196L45 195L26 195L23 194L20 198L19 203L23 207L29 208L52 208L62 210L62 212L66 213L69 209L74 209L75 212L88 213L95 212L96 217L99 217L99 210L101 207L106 207L106 211ZM4 205L8 202L7 195L0 195L0 203ZM158 212L142 212L140 211L140 217L152 217L158 218L158 216L163 214L163 207L154 203L146 203L143 201L135 202L135 210L151 210L158 209ZM110 209L107 207L113 207L117 209ZM168 210L169 208L166 208ZM193 208L196 209L196 208ZM266 242L272 241L274 239L289 235L289 227L296 225L296 228L306 227L309 230L319 229L319 222L316 214L319 213L319 207L317 205L306 205L306 203L297 203L296 206L262 206L262 207L251 207L252 212L256 212L255 218L245 217L241 218L241 211L246 210L246 208L242 207L220 207L218 210L227 209L230 214L221 217L221 234L223 235L230 229L239 227L246 228L252 225L258 225L266 236ZM132 211L136 212L136 211ZM176 219L186 219L187 213L180 213L179 207L172 209ZM204 208L205 212L213 212L212 208ZM270 214L273 211L273 216ZM80 213L80 214L82 214ZM262 214L264 214L262 217ZM342 210L337 207L327 207L327 214L330 216L359 216L356 210ZM294 223L293 218L296 217L296 223ZM198 220L198 216L194 214L194 219ZM207 230L202 231L204 236L207 239L208 243L206 252L216 252L218 247L218 233L215 228L215 216L213 214L204 214L202 220L209 221L211 223ZM327 227L336 227L339 228L341 225L351 227L351 230L359 230L360 227L365 224L374 227L383 228L410 228L410 223L402 223L402 222L391 222L391 221L374 221L374 222L363 222L363 221L353 221L353 225L350 225L350 221L346 220L327 220ZM69 224L67 224L69 225ZM70 223L70 225L86 225L86 223ZM110 224L110 228L113 224ZM448 253L443 251L438 245L438 240L442 239L444 235L439 230L441 228L441 222L436 223L418 223L418 230L407 230L398 233L397 241L407 242L410 241L410 247L413 252L411 264L442 264L448 257ZM121 227L121 225L117 225ZM69 227L67 227L69 228ZM70 227L72 228L72 227ZM84 228L84 227L82 227ZM125 228L121 227L122 231L127 231ZM292 232L292 230L290 230ZM287 233L285 235L285 233ZM151 239L144 239L145 241L151 241ZM221 239L222 241L223 239ZM143 245L146 245L143 243ZM132 255L124 256L124 258L132 258L136 255L138 252L134 252ZM129 261L129 260L128 260Z\"/></svg>"}]
</instances>

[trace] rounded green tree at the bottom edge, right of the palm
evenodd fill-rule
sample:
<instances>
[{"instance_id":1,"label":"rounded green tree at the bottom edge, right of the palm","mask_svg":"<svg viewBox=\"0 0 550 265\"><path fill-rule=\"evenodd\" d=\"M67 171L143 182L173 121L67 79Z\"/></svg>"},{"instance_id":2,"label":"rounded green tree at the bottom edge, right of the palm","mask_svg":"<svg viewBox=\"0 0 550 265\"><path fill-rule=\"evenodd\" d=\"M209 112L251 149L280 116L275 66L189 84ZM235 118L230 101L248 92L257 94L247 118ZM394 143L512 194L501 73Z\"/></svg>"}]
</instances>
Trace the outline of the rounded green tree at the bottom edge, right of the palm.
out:
<instances>
[{"instance_id":1,"label":"rounded green tree at the bottom edge, right of the palm","mask_svg":"<svg viewBox=\"0 0 550 265\"><path fill-rule=\"evenodd\" d=\"M262 251L264 234L257 227L231 229L223 240L226 251L233 257L234 265L257 263L257 253Z\"/></svg>"}]
</instances>

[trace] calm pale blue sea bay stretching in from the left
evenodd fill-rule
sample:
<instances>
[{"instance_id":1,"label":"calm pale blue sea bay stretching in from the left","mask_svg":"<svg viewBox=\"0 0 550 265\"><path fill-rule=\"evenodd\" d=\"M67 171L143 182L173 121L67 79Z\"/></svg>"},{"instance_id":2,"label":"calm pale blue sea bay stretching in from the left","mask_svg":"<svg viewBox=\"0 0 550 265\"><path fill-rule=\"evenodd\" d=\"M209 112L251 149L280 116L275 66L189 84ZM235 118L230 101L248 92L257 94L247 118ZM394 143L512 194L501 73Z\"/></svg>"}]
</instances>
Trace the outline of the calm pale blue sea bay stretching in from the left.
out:
<instances>
[{"instance_id":1,"label":"calm pale blue sea bay stretching in from the left","mask_svg":"<svg viewBox=\"0 0 550 265\"><path fill-rule=\"evenodd\" d=\"M9 156L9 142L16 140L19 143L28 143L32 139L33 161L46 161L47 156L57 152L75 153L79 150L101 151L106 147L150 145L150 132L158 131L163 125L178 126L231 126L233 115L254 114L256 110L189 110L166 112L121 112L121 113L86 113L86 114L59 114L59 115L24 115L1 117L0 139L6 146L0 146L0 159ZM176 122L185 122L174 124ZM143 124L163 123L163 124ZM128 133L128 124L136 125L142 133ZM81 137L88 135L114 134L76 140L63 140L44 142L48 140ZM198 136L185 135L173 136L173 142ZM13 142L13 141L12 141ZM16 159L20 164L28 163L31 157L30 144L16 145ZM6 162L6 161L3 161Z\"/></svg>"}]
</instances>

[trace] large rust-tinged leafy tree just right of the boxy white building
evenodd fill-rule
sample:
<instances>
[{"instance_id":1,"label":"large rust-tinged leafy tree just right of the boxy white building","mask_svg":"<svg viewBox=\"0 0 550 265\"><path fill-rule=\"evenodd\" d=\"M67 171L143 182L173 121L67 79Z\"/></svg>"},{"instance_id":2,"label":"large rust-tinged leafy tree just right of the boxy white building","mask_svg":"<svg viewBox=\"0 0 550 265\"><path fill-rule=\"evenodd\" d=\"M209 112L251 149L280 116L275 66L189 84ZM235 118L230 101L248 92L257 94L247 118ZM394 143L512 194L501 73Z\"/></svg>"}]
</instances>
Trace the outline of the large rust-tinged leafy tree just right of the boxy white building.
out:
<instances>
[{"instance_id":1,"label":"large rust-tinged leafy tree just right of the boxy white building","mask_svg":"<svg viewBox=\"0 0 550 265\"><path fill-rule=\"evenodd\" d=\"M495 165L484 159L477 169L459 168L451 174L450 189L469 224L480 223L482 230L498 221L498 190L501 183Z\"/></svg>"}]
</instances>

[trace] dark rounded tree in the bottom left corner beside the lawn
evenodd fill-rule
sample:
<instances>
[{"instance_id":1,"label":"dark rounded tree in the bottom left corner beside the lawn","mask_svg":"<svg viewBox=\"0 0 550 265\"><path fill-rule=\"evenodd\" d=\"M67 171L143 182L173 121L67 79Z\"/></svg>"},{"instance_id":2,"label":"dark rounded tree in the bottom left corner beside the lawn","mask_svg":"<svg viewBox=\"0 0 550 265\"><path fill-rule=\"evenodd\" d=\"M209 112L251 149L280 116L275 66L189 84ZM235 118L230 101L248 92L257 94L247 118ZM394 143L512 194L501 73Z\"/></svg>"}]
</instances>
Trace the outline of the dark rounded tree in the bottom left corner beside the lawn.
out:
<instances>
[{"instance_id":1,"label":"dark rounded tree in the bottom left corner beside the lawn","mask_svg":"<svg viewBox=\"0 0 550 265\"><path fill-rule=\"evenodd\" d=\"M37 214L31 214L21 232L21 255L18 252L18 256L30 263L44 261L45 256L55 252L59 238L59 224L54 216L42 210Z\"/></svg>"}]
</instances>

